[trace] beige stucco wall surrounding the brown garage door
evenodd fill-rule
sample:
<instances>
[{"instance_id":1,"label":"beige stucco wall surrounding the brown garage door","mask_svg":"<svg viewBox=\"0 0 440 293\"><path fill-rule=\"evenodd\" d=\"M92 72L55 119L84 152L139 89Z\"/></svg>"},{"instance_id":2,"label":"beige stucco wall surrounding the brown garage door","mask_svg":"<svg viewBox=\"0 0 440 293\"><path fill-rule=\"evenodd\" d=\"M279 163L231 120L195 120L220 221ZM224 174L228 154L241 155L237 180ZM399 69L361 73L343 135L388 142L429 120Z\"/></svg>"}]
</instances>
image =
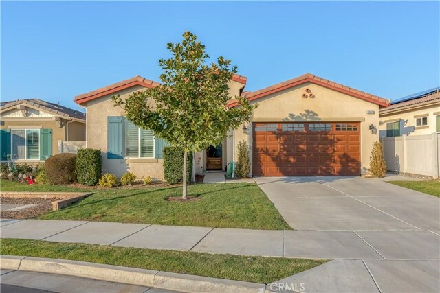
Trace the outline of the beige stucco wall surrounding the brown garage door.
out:
<instances>
[{"instance_id":1,"label":"beige stucco wall surrounding the brown garage door","mask_svg":"<svg viewBox=\"0 0 440 293\"><path fill-rule=\"evenodd\" d=\"M311 89L314 98L302 97L307 88ZM369 130L370 124L376 127L379 124L377 104L310 82L257 99L256 103L259 106L254 110L252 121L361 121L361 172L368 172L372 145L379 139L378 133L371 134ZM375 114L367 115L367 110ZM251 147L252 158L252 123L246 126L246 131L243 126L234 131L235 150L239 141L246 141Z\"/></svg>"}]
</instances>

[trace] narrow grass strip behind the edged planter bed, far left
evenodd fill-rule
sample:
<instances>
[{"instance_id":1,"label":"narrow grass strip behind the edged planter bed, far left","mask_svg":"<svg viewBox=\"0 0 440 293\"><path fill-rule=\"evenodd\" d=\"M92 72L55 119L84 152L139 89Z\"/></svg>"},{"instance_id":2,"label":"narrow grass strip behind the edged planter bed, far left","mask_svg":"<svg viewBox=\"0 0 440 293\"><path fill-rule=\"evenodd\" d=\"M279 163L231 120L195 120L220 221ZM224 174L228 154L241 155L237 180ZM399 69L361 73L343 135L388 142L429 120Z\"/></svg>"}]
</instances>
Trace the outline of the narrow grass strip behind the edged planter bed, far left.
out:
<instances>
[{"instance_id":1,"label":"narrow grass strip behind the edged planter bed, far left","mask_svg":"<svg viewBox=\"0 0 440 293\"><path fill-rule=\"evenodd\" d=\"M90 191L87 188L76 188L66 185L43 185L19 183L12 180L0 180L1 191L34 191L34 192L83 192Z\"/></svg>"}]
</instances>

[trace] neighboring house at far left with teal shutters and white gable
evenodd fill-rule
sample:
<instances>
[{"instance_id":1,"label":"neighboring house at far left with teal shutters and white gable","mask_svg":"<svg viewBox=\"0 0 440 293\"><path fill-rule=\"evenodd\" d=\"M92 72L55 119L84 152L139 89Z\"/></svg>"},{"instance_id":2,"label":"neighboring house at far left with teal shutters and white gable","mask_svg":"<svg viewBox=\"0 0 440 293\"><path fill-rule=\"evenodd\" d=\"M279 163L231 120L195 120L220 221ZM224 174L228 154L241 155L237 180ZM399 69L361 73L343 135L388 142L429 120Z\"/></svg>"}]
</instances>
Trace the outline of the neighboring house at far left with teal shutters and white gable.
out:
<instances>
[{"instance_id":1,"label":"neighboring house at far left with teal shutters and white gable","mask_svg":"<svg viewBox=\"0 0 440 293\"><path fill-rule=\"evenodd\" d=\"M39 163L58 154L58 141L85 141L85 113L41 99L0 104L1 161Z\"/></svg>"}]
</instances>

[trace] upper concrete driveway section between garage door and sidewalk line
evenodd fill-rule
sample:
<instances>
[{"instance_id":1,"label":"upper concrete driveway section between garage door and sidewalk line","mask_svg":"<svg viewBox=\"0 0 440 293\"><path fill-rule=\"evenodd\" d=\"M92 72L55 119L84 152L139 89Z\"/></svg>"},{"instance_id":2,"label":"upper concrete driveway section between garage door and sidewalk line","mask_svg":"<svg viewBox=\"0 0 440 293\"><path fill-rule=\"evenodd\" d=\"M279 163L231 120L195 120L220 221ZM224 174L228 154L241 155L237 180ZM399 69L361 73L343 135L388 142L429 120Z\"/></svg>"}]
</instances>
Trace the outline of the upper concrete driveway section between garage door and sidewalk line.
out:
<instances>
[{"instance_id":1,"label":"upper concrete driveway section between garage door and sidewalk line","mask_svg":"<svg viewBox=\"0 0 440 293\"><path fill-rule=\"evenodd\" d=\"M440 230L440 199L362 177L258 177L296 230Z\"/></svg>"}]
</instances>

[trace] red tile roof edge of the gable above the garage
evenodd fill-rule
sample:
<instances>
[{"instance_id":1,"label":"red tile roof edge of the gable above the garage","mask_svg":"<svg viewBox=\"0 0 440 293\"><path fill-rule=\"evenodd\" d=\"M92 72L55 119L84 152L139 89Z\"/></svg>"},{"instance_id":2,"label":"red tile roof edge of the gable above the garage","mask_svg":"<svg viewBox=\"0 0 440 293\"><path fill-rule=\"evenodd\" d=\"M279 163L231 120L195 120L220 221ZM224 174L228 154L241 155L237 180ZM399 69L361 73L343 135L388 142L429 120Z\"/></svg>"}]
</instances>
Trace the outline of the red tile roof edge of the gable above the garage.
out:
<instances>
[{"instance_id":1,"label":"red tile roof edge of the gable above the garage","mask_svg":"<svg viewBox=\"0 0 440 293\"><path fill-rule=\"evenodd\" d=\"M359 99L364 99L368 102L378 104L380 106L388 106L390 104L388 99L377 97L377 95L371 95L370 93L365 93L363 91L359 91L358 89L353 89L349 86L344 86L343 84L338 84L337 82L332 82L330 80L320 78L310 73L306 73L304 75L298 76L298 78L293 78L292 80L287 80L279 84L268 86L267 88L261 89L259 91L253 91L251 93L248 93L248 95L246 95L245 97L247 97L250 101L254 101L262 97L267 97L267 95L278 93L279 91L284 91L285 89L290 89L294 86L304 84L305 82L312 82L320 86L325 86L329 89L333 89L335 91L339 91L340 93L345 93L353 97L358 97ZM230 100L229 106L233 107L237 105L238 102L236 101L236 99Z\"/></svg>"}]
</instances>

